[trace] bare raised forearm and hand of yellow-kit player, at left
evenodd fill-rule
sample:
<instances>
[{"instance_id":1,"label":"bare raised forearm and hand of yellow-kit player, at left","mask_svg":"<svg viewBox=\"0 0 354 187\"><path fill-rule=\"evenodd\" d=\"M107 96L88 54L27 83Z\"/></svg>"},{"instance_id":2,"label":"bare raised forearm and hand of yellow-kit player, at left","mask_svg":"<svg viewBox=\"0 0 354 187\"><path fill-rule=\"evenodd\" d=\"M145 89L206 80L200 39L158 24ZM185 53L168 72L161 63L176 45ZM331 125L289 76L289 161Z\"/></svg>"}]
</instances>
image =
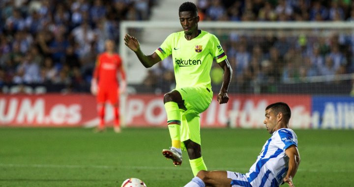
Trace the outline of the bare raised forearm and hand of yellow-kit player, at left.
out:
<instances>
[{"instance_id":1,"label":"bare raised forearm and hand of yellow-kit player, at left","mask_svg":"<svg viewBox=\"0 0 354 187\"><path fill-rule=\"evenodd\" d=\"M161 58L159 55L157 55L157 53L145 55L140 50L139 41L135 37L130 36L129 34L125 34L124 41L124 44L138 56L140 62L144 65L144 67L149 68L157 62L161 61Z\"/></svg>"}]
</instances>

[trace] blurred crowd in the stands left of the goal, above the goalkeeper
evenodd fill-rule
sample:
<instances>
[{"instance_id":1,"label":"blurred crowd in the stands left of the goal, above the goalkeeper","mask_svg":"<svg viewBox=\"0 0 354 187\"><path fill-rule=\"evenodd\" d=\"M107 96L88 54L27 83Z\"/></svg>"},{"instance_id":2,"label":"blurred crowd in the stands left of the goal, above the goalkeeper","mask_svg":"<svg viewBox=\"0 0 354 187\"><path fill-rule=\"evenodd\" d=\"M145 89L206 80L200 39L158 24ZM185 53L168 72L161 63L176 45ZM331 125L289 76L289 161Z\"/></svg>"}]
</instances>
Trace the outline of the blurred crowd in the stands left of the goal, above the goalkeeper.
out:
<instances>
[{"instance_id":1,"label":"blurred crowd in the stands left of the goal, above the goalkeeper","mask_svg":"<svg viewBox=\"0 0 354 187\"><path fill-rule=\"evenodd\" d=\"M0 0L0 90L57 84L88 91L104 41L122 20L147 20L153 0ZM0 91L1 92L1 91Z\"/></svg>"}]
</instances>

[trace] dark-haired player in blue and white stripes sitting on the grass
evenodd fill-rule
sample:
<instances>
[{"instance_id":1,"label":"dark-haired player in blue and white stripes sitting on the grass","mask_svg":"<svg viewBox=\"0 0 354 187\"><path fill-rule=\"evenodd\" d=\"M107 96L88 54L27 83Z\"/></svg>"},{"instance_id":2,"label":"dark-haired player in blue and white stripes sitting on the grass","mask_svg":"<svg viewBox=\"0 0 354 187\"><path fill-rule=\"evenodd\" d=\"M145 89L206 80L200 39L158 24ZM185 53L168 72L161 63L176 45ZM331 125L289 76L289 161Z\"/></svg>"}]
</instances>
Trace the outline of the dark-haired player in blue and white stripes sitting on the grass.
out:
<instances>
[{"instance_id":1,"label":"dark-haired player in blue and white stripes sitting on the grass","mask_svg":"<svg viewBox=\"0 0 354 187\"><path fill-rule=\"evenodd\" d=\"M278 187L293 178L300 163L297 136L288 128L291 117L286 103L266 107L266 129L272 136L266 141L256 162L246 174L232 171L200 171L184 187Z\"/></svg>"}]
</instances>

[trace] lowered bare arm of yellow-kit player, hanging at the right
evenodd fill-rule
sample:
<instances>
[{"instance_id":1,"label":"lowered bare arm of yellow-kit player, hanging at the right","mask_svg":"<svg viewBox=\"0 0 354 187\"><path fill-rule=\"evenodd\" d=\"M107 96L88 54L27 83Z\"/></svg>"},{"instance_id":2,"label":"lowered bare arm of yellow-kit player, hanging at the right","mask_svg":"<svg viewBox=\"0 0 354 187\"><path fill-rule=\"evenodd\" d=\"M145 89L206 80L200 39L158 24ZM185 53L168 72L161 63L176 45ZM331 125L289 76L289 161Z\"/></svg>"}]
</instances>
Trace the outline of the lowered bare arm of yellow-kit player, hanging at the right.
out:
<instances>
[{"instance_id":1,"label":"lowered bare arm of yellow-kit player, hanging at the right","mask_svg":"<svg viewBox=\"0 0 354 187\"><path fill-rule=\"evenodd\" d=\"M230 66L229 60L227 58L225 60L219 62L218 64L224 70L224 75L223 75L223 83L222 83L217 100L219 101L219 104L223 104L223 103L227 103L229 101L229 96L227 94L227 91L229 89L229 84L231 81L233 71Z\"/></svg>"}]
</instances>

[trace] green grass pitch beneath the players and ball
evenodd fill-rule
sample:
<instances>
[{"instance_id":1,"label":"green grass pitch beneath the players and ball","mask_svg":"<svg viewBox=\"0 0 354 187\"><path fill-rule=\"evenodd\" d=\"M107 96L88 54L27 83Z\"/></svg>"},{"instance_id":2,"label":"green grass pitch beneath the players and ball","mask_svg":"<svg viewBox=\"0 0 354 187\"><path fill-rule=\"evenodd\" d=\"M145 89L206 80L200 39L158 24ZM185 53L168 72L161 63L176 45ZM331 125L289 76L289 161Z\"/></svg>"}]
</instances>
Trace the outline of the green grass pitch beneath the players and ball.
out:
<instances>
[{"instance_id":1,"label":"green grass pitch beneath the players and ball","mask_svg":"<svg viewBox=\"0 0 354 187\"><path fill-rule=\"evenodd\" d=\"M270 134L266 130L202 129L209 170L247 172ZM295 187L354 186L354 131L295 130L301 163ZM0 128L0 187L120 187L131 177L148 187L181 187L191 172L166 160L167 129ZM287 185L284 185L284 187Z\"/></svg>"}]
</instances>

